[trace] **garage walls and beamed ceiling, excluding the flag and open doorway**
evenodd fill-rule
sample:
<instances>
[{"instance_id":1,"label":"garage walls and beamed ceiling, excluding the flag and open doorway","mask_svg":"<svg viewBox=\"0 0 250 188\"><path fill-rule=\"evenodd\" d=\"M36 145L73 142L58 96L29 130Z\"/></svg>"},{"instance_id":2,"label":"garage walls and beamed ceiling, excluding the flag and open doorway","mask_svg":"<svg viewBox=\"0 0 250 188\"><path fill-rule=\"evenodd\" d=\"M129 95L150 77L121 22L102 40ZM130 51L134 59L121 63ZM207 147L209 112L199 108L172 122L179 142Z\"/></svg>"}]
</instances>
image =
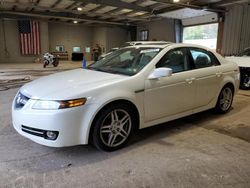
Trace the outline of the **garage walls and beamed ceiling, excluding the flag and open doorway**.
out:
<instances>
[{"instance_id":1,"label":"garage walls and beamed ceiling, excluding the flag and open doorway","mask_svg":"<svg viewBox=\"0 0 250 188\"><path fill-rule=\"evenodd\" d=\"M91 52L86 52L86 48L96 43L105 53L124 42L140 40L142 30L148 30L147 40L182 42L184 27L208 23L219 24L221 37L218 37L217 50L221 54L236 55L250 45L246 32L250 27L250 8L244 1L194 1L192 5L184 1L180 6L165 1L122 1L117 3L118 7L112 1L104 4L83 2L2 1L1 63L34 61L34 57L22 56L19 50L17 21L27 19L27 14L30 19L40 20L41 54L54 52L57 45L63 45L68 60L71 60L74 46L81 47L87 60L91 60ZM123 4L128 8L122 8ZM195 9L190 9L192 7ZM66 18L63 13L68 14Z\"/></svg>"}]
</instances>

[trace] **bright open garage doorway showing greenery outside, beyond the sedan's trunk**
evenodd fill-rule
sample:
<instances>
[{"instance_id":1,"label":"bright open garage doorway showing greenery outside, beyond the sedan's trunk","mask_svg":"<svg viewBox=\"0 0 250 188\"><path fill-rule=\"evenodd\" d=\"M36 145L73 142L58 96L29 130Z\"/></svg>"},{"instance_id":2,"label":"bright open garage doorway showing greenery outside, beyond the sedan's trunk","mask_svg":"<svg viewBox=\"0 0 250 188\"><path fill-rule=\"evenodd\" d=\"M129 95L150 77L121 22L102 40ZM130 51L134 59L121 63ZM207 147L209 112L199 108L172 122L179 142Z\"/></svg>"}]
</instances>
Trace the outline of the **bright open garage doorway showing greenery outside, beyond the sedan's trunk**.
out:
<instances>
[{"instance_id":1,"label":"bright open garage doorway showing greenery outside, beyond the sedan's trunk","mask_svg":"<svg viewBox=\"0 0 250 188\"><path fill-rule=\"evenodd\" d=\"M218 23L188 26L183 30L183 42L216 49L217 34Z\"/></svg>"}]
</instances>

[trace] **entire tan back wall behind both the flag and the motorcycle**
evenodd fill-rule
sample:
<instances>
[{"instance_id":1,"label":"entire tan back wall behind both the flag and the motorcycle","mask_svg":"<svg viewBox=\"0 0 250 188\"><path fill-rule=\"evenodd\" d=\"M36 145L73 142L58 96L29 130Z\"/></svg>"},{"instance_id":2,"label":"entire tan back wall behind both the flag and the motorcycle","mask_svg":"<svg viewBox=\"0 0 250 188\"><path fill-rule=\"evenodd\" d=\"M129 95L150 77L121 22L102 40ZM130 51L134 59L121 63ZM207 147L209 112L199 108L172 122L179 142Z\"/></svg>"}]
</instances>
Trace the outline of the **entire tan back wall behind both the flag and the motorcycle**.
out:
<instances>
[{"instance_id":1,"label":"entire tan back wall behind both the flag and the motorcycle","mask_svg":"<svg viewBox=\"0 0 250 188\"><path fill-rule=\"evenodd\" d=\"M1 21L1 20L0 20ZM64 45L71 59L73 46L80 46L87 60L91 53L85 52L85 47L100 44L106 52L112 47L121 46L128 40L127 29L113 27L90 27L65 23L40 22L41 52L53 52L56 45ZM4 37L2 22L0 22L0 63L30 63L39 56L22 56L20 54L19 31L16 20L4 20L6 45L8 53L4 50Z\"/></svg>"}]
</instances>

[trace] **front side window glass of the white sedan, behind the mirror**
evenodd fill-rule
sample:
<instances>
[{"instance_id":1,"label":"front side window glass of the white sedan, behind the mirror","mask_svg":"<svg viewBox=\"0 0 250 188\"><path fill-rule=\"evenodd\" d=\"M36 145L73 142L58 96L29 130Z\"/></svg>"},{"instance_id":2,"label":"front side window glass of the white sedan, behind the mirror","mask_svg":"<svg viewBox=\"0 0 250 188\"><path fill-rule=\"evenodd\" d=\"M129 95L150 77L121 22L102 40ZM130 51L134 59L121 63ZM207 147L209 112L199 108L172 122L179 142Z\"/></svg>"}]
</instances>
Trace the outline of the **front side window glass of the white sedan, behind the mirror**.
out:
<instances>
[{"instance_id":1,"label":"front side window glass of the white sedan, behind the mirror","mask_svg":"<svg viewBox=\"0 0 250 188\"><path fill-rule=\"evenodd\" d=\"M156 67L168 67L173 73L183 72L191 69L189 56L186 48L178 48L167 52L156 64Z\"/></svg>"}]
</instances>

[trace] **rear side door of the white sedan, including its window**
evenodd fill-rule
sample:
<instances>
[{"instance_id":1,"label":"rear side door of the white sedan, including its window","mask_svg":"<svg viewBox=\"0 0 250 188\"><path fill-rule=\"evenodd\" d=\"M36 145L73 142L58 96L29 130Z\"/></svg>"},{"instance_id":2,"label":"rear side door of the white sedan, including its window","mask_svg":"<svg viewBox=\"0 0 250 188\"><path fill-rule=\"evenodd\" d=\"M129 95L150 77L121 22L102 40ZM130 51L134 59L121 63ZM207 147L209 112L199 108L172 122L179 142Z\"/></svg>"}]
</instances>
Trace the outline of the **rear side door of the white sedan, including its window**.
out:
<instances>
[{"instance_id":1,"label":"rear side door of the white sedan, including its window","mask_svg":"<svg viewBox=\"0 0 250 188\"><path fill-rule=\"evenodd\" d=\"M195 108L208 105L217 97L223 73L220 63L209 51L201 48L190 48L195 66L192 71L196 82Z\"/></svg>"}]
</instances>

